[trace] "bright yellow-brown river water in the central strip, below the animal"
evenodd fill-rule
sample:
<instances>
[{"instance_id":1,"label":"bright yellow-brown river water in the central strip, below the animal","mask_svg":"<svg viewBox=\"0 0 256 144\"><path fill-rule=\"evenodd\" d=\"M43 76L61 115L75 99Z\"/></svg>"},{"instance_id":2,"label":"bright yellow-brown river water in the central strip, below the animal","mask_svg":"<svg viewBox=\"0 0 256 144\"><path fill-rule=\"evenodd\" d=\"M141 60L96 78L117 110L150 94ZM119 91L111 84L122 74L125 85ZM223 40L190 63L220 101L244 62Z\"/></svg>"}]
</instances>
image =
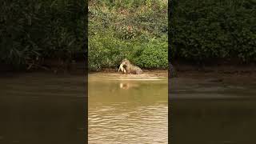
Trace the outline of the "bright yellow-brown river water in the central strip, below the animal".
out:
<instances>
[{"instance_id":1,"label":"bright yellow-brown river water in the central strip, below the animal","mask_svg":"<svg viewBox=\"0 0 256 144\"><path fill-rule=\"evenodd\" d=\"M89 76L89 143L168 143L167 80L107 79Z\"/></svg>"}]
</instances>

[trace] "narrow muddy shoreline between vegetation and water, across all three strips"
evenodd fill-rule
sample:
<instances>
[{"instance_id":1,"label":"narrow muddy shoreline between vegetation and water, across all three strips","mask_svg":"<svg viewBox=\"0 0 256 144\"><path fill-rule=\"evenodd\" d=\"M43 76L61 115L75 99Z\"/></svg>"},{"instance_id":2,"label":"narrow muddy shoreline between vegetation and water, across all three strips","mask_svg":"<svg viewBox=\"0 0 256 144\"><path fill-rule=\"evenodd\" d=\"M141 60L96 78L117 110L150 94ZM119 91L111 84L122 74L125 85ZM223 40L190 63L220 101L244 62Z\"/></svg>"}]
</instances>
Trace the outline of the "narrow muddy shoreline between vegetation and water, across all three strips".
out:
<instances>
[{"instance_id":1,"label":"narrow muddy shoreline between vegetation and water, across all three strips","mask_svg":"<svg viewBox=\"0 0 256 144\"><path fill-rule=\"evenodd\" d=\"M177 73L177 78L245 78L249 81L256 82L256 66L255 65L215 65L215 66L194 66L189 64L174 63L174 70ZM150 74L157 77L168 77L169 70L153 69L146 70L142 69L143 74ZM9 75L9 74L34 74L34 73L49 73L49 74L86 74L86 66L83 62L78 62L71 69L67 70L65 68L60 68L56 66L50 66L49 70L0 70L0 75ZM88 71L87 74L118 74L122 75L121 72L118 72L118 69L102 69L99 71ZM123 74L126 75L126 74ZM140 75L140 74L138 74ZM243 80L245 81L245 80Z\"/></svg>"}]
</instances>

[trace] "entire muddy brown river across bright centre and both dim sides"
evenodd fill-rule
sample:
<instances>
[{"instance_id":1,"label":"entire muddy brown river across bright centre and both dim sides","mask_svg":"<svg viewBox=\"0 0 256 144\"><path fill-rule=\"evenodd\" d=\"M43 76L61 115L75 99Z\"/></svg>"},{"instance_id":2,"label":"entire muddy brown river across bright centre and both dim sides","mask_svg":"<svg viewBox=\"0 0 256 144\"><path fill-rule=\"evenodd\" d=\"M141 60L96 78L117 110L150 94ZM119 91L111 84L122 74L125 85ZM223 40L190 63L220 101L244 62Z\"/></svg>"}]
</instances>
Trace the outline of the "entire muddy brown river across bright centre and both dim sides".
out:
<instances>
[{"instance_id":1,"label":"entire muddy brown river across bright centre and both dim sides","mask_svg":"<svg viewBox=\"0 0 256 144\"><path fill-rule=\"evenodd\" d=\"M255 82L172 78L168 115L166 78L144 76L90 75L89 143L256 143ZM0 78L0 143L86 141L85 82L70 74Z\"/></svg>"}]
</instances>

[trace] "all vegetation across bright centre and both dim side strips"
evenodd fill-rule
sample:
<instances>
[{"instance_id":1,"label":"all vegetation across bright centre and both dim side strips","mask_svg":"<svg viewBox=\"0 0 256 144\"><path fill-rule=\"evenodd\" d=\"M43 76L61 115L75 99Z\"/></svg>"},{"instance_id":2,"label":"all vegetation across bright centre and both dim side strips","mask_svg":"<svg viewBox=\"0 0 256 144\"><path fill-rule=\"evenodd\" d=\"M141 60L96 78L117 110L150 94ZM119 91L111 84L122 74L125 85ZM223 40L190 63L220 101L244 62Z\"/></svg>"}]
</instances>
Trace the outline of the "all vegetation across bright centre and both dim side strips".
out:
<instances>
[{"instance_id":1,"label":"all vegetation across bright centre and both dim side strips","mask_svg":"<svg viewBox=\"0 0 256 144\"><path fill-rule=\"evenodd\" d=\"M256 62L255 0L175 0L172 60ZM25 69L47 59L86 54L86 2L7 1L0 5L0 66ZM123 58L146 69L168 66L167 0L90 0L89 70L115 68Z\"/></svg>"}]
</instances>

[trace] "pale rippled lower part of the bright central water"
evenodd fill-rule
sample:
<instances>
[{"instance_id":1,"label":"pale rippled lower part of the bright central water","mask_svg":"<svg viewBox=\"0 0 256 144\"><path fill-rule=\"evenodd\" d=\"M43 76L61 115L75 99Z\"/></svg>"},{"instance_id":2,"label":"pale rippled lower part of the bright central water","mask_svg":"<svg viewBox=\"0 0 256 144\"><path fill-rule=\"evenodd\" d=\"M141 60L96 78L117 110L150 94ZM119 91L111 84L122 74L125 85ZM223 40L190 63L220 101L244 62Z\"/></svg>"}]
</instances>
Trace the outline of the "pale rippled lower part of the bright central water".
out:
<instances>
[{"instance_id":1,"label":"pale rippled lower part of the bright central water","mask_svg":"<svg viewBox=\"0 0 256 144\"><path fill-rule=\"evenodd\" d=\"M168 106L138 106L89 110L89 143L167 143Z\"/></svg>"}]
</instances>

